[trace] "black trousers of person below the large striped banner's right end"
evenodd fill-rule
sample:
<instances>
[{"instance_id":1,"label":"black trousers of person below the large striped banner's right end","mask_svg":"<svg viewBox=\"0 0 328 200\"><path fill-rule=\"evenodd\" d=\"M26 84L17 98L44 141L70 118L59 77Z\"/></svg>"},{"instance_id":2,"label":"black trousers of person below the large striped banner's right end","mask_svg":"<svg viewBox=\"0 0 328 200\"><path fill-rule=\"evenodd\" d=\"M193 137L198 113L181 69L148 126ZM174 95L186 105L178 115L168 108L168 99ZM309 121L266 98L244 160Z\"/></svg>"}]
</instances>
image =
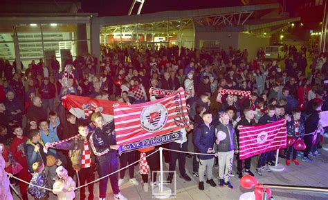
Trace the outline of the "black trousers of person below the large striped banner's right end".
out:
<instances>
[{"instance_id":1,"label":"black trousers of person below the large striped banner's right end","mask_svg":"<svg viewBox=\"0 0 328 200\"><path fill-rule=\"evenodd\" d=\"M176 143L176 142L171 142L170 149L172 150L181 150L181 151L187 151L188 148L188 142L185 143ZM170 151L170 171L175 171L175 166L176 166L176 160L179 161L179 172L181 175L185 174L185 153L182 152L172 152ZM170 172L170 174L173 174Z\"/></svg>"}]
</instances>

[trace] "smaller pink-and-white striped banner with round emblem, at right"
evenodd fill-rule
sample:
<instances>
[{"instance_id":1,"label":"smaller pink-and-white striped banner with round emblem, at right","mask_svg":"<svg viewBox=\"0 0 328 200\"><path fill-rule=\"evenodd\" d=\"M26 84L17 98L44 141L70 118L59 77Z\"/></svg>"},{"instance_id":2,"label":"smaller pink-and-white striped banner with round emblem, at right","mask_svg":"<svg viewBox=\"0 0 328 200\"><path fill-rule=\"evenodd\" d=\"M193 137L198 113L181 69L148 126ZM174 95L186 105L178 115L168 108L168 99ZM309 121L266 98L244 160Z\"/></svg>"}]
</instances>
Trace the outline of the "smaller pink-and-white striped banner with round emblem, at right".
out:
<instances>
[{"instance_id":1,"label":"smaller pink-and-white striped banner with round emblem, at right","mask_svg":"<svg viewBox=\"0 0 328 200\"><path fill-rule=\"evenodd\" d=\"M286 121L280 119L260 126L239 126L239 158L286 148Z\"/></svg>"}]
</instances>

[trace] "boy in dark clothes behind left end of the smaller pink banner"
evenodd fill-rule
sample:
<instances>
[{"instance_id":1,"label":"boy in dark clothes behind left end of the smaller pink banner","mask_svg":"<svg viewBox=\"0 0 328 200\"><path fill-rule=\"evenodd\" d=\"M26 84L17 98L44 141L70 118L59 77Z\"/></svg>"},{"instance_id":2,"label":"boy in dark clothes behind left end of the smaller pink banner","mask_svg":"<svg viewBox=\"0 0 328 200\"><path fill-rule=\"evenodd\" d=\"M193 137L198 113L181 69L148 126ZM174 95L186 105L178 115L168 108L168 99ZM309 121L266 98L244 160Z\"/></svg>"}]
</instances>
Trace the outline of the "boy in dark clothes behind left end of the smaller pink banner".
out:
<instances>
[{"instance_id":1,"label":"boy in dark clothes behind left end of the smaller pink banner","mask_svg":"<svg viewBox=\"0 0 328 200\"><path fill-rule=\"evenodd\" d=\"M239 121L237 127L239 126L253 126L255 125L255 120L254 120L254 112L250 108L245 108L244 109L244 117ZM237 141L239 144L239 129L236 129L237 133ZM243 177L243 168L245 168L246 174L249 174L250 176L254 177L253 172L250 171L250 162L252 161L252 157L249 157L248 159L241 160L239 159L239 154L237 154L237 174L239 179L242 179ZM244 163L244 166L243 166Z\"/></svg>"}]
</instances>

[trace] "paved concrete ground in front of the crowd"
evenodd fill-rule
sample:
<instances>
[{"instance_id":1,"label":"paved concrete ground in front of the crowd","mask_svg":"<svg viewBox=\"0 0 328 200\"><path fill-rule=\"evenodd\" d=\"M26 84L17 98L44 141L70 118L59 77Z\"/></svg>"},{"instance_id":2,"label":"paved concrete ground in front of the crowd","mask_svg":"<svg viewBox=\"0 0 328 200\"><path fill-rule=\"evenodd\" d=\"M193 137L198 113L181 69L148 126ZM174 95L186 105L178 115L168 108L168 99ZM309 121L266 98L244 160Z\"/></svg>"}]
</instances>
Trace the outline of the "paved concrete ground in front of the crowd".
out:
<instances>
[{"instance_id":1,"label":"paved concrete ground in front of the crowd","mask_svg":"<svg viewBox=\"0 0 328 200\"><path fill-rule=\"evenodd\" d=\"M328 143L326 139L325 143ZM189 144L189 149L192 149L192 144ZM322 156L314 159L312 163L304 163L300 161L300 166L295 166L291 163L291 166L285 166L284 172L264 172L262 177L255 175L259 183L268 183L268 184L282 184L290 186L314 186L314 187L326 187L328 188L328 173L327 173L327 164L328 164L328 152L325 150L320 150ZM299 159L299 158L298 158ZM239 186L239 179L236 172L236 163L234 163L233 174L234 177L231 177L230 181L235 186L234 189L228 187L219 188L211 187L205 183L205 190L201 191L198 189L198 178L192 176L192 159L186 158L186 170L192 181L186 182L178 176L176 176L176 195L170 197L170 199L239 199L239 196L243 192L250 192L252 190L245 190ZM299 159L300 160L300 159ZM279 159L280 163L284 163L284 159ZM255 172L255 159L252 161L251 170ZM167 164L164 165L164 170L168 170ZM178 166L176 166L176 169ZM179 170L178 170L179 171ZM177 172L179 173L179 172ZM213 169L213 174L215 175L215 182L217 182L217 169ZM125 177L128 177L128 172L126 172ZM134 186L132 183L129 183L128 179L125 179L125 183L120 186L122 194L125 195L128 199L155 199L152 197L151 187L149 187L149 192L143 192L143 184L140 174L138 174L138 168L135 168L135 177L139 181L139 186ZM164 175L166 179L167 174ZM159 180L159 174L157 177ZM174 188L174 185L169 185L170 188ZM17 188L18 189L18 188ZM19 191L19 190L18 190ZM98 199L99 190L98 183L95 183L95 199ZM328 199L328 194L318 194L310 192L295 192L291 190L272 190L272 194L275 199ZM78 193L76 192L77 198ZM33 199L32 197L29 197ZM15 199L18 199L15 196ZM51 194L50 199L57 199L53 194ZM107 199L113 199L113 193L111 192L111 186L108 185L107 188Z\"/></svg>"}]
</instances>

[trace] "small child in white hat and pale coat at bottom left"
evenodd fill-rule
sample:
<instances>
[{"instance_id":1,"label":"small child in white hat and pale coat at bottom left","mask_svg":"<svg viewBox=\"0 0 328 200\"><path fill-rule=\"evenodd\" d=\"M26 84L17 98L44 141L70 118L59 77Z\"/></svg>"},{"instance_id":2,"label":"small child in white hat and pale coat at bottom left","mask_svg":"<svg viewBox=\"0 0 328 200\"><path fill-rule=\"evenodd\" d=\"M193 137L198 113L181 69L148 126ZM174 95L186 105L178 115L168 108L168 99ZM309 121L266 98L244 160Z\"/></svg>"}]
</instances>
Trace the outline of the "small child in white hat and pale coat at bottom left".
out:
<instances>
[{"instance_id":1,"label":"small child in white hat and pale coat at bottom left","mask_svg":"<svg viewBox=\"0 0 328 200\"><path fill-rule=\"evenodd\" d=\"M75 182L69 177L63 166L56 169L56 180L53 183L53 193L57 194L58 200L73 200L75 198Z\"/></svg>"}]
</instances>

